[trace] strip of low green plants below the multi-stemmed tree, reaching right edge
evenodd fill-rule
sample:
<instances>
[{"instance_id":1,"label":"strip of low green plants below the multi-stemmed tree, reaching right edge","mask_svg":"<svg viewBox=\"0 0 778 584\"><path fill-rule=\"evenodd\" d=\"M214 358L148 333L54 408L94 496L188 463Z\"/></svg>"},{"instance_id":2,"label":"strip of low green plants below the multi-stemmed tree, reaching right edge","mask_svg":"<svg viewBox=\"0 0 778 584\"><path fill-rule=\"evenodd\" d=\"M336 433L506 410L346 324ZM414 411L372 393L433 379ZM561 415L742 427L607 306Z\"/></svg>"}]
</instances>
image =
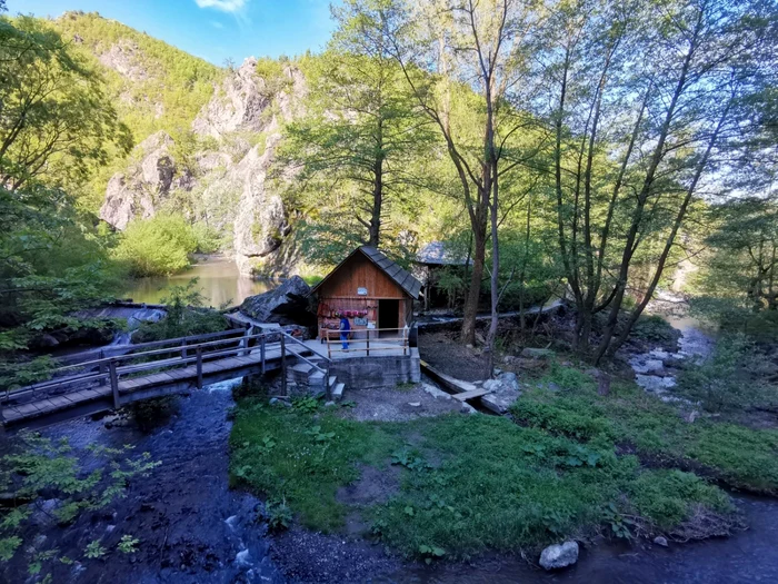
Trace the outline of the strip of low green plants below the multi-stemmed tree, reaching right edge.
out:
<instances>
[{"instance_id":1,"label":"strip of low green plants below the multi-stemmed tree, reaching right edge","mask_svg":"<svg viewBox=\"0 0 778 584\"><path fill-rule=\"evenodd\" d=\"M561 392L542 388L559 377L552 369L512 407L520 424L604 447L634 447L661 465L697 468L734 487L778 493L777 430L708 418L689 424L676 406L634 384L614 383L606 397L597 395L592 383Z\"/></svg>"}]
</instances>

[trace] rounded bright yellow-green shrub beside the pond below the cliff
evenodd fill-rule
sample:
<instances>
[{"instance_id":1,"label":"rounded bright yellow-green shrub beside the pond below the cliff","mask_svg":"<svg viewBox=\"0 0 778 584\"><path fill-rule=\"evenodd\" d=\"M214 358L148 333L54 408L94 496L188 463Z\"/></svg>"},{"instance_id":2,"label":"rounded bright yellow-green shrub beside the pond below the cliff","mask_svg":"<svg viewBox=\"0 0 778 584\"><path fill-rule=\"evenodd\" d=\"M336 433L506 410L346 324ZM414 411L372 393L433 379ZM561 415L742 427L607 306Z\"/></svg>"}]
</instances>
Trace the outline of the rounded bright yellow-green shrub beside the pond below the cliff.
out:
<instances>
[{"instance_id":1,"label":"rounded bright yellow-green shrub beside the pond below the cliff","mask_svg":"<svg viewBox=\"0 0 778 584\"><path fill-rule=\"evenodd\" d=\"M127 263L133 276L163 276L189 266L189 255L198 239L182 217L158 215L132 221L116 249L117 259Z\"/></svg>"}]
</instances>

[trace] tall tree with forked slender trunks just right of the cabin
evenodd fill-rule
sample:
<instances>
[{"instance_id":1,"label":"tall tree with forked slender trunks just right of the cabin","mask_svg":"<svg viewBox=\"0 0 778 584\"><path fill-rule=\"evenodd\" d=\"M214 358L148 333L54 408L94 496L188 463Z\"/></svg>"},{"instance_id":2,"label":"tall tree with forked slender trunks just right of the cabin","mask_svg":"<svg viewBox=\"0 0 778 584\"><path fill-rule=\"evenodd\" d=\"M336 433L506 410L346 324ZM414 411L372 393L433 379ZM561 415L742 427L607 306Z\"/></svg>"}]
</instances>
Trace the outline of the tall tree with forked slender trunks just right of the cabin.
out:
<instances>
[{"instance_id":1,"label":"tall tree with forked slender trunks just right of the cabin","mask_svg":"<svg viewBox=\"0 0 778 584\"><path fill-rule=\"evenodd\" d=\"M469 344L476 339L491 238L491 348L499 303L500 179L523 156L510 140L531 125L510 99L527 90L523 49L540 13L533 2L519 0L350 0L346 10L356 38L387 47L397 60L419 107L440 132L459 178L473 241L461 331ZM462 108L460 100L469 107ZM480 126L475 136L466 130L473 120Z\"/></svg>"}]
</instances>

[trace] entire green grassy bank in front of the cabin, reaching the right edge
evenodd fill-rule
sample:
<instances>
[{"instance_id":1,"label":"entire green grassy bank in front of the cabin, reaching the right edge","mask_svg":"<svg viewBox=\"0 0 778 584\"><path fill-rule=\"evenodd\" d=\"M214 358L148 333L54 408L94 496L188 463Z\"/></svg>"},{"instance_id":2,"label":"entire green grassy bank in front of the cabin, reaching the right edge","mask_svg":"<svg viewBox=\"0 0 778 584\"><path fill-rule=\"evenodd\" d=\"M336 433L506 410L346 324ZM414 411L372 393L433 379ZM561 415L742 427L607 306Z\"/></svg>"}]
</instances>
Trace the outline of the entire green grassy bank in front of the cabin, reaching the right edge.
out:
<instances>
[{"instance_id":1,"label":"entire green grassy bank in front of the cabin, reaching the right edge","mask_svg":"<svg viewBox=\"0 0 778 584\"><path fill-rule=\"evenodd\" d=\"M737 521L708 475L778 488L778 434L698 419L631 384L596 394L552 366L515 420L460 414L402 423L239 403L231 478L312 529L378 537L409 557L516 552L565 537L726 533ZM687 472L694 469L697 473Z\"/></svg>"}]
</instances>

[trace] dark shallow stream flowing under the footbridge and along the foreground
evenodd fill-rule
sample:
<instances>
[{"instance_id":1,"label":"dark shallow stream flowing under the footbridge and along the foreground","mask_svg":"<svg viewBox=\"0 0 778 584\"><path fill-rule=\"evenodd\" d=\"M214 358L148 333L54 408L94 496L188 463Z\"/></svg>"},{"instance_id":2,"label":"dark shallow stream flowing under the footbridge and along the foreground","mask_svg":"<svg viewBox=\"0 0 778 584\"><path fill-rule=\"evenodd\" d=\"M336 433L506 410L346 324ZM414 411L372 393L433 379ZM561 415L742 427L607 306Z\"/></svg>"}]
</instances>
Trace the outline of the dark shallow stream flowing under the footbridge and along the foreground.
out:
<instances>
[{"instance_id":1,"label":"dark shallow stream flowing under the footbridge and along the foreground","mask_svg":"<svg viewBox=\"0 0 778 584\"><path fill-rule=\"evenodd\" d=\"M682 324L676 324L681 328ZM706 335L687 324L687 352L706 345ZM695 340L697 339L697 340ZM701 350L701 349L700 349ZM734 493L749 529L732 537L662 548L647 542L601 543L584 547L576 566L560 573L545 573L520 558L480 558L476 564L425 566L399 560L375 560L367 567L342 574L349 563L383 556L380 547L350 543L340 537L339 547L323 547L325 558L338 565L319 578L295 580L290 565L301 562L307 550L267 535L256 523L261 503L241 491L229 488L228 439L233 405L231 387L223 382L193 390L179 400L178 412L151 432L112 417L81 418L52 426L44 434L68 437L76 447L89 444L120 447L136 445L136 453L149 452L162 464L146 478L137 477L127 497L108 509L83 514L73 525L43 527L46 547L59 547L70 557L82 557L89 542L110 534L132 534L140 540L132 555L112 553L106 562L76 563L64 582L88 583L281 583L281 582L381 582L381 583L754 583L778 582L778 499ZM275 543L276 542L276 543ZM292 543L296 541L292 540ZM299 543L299 542L297 542ZM273 547L275 546L275 547ZM361 546L361 547L360 547ZM367 553L353 550L370 548ZM335 553L335 551L339 551ZM348 552L348 553L347 553ZM320 552L319 552L320 553ZM303 554L302 556L300 554ZM359 554L362 554L361 556ZM321 555L321 553L320 553ZM315 555L306 565L318 565ZM359 557L361 560L353 560ZM346 566L345 566L346 564ZM372 567L371 567L372 566ZM19 566L21 574L23 566ZM317 567L311 566L311 573ZM341 575L338 576L337 574ZM0 572L0 574L2 574ZM22 582L23 577L10 580Z\"/></svg>"}]
</instances>

